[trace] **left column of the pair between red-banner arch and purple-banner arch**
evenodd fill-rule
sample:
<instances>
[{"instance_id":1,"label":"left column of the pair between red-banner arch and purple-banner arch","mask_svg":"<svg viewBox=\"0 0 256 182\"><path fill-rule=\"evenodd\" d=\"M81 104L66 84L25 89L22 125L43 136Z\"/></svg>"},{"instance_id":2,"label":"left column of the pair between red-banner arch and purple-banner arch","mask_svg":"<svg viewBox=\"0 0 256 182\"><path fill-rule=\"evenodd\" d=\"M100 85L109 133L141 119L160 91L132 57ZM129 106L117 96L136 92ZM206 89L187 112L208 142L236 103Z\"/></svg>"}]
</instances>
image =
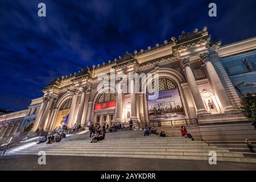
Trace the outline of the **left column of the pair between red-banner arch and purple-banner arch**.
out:
<instances>
[{"instance_id":1,"label":"left column of the pair between red-banner arch and purple-banner arch","mask_svg":"<svg viewBox=\"0 0 256 182\"><path fill-rule=\"evenodd\" d=\"M116 111L117 111L117 117L115 119L116 122L122 122L122 113L123 113L123 90L122 90L122 81L118 82L117 86L117 103L115 104L116 106Z\"/></svg>"}]
</instances>

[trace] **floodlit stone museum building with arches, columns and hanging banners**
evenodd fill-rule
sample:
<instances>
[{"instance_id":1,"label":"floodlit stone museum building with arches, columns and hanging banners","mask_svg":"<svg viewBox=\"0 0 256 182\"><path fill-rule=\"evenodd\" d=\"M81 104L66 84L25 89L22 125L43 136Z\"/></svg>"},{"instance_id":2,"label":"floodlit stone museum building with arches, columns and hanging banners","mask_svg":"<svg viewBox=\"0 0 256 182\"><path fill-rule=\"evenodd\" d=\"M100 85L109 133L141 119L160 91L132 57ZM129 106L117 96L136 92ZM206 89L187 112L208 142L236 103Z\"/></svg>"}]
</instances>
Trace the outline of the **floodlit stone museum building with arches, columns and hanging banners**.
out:
<instances>
[{"instance_id":1,"label":"floodlit stone museum building with arches, columns and hanging banners","mask_svg":"<svg viewBox=\"0 0 256 182\"><path fill-rule=\"evenodd\" d=\"M147 81L129 78L142 73ZM102 75L114 79L114 84L101 86ZM156 90L158 98L150 100ZM205 27L57 77L23 117L36 115L31 131L52 131L61 123L104 126L132 119L139 127L188 125L200 139L229 139L234 134L256 139L254 127L240 109L246 93L256 93L256 38L221 46ZM0 115L0 137L11 121L8 115Z\"/></svg>"}]
</instances>

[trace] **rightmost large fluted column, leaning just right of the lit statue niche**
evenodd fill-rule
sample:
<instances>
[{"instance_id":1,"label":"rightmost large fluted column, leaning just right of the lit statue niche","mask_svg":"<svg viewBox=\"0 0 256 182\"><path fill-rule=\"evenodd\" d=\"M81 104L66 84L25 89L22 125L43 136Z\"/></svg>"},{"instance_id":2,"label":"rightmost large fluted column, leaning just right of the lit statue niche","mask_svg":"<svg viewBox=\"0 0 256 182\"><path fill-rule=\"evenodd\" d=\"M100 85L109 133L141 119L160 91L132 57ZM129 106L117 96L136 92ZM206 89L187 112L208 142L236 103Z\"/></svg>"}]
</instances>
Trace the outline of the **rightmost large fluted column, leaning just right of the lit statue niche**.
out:
<instances>
[{"instance_id":1,"label":"rightmost large fluted column, leaning just right of the lit statue niche","mask_svg":"<svg viewBox=\"0 0 256 182\"><path fill-rule=\"evenodd\" d=\"M205 68L208 72L208 78L210 82L212 82L213 89L215 90L224 111L237 111L237 109L232 105L231 101L229 100L229 97L225 92L224 86L222 85L221 80L218 77L215 68L213 67L212 61L210 61L208 57L208 53L203 53L200 55L200 63L202 65L205 65Z\"/></svg>"}]
</instances>

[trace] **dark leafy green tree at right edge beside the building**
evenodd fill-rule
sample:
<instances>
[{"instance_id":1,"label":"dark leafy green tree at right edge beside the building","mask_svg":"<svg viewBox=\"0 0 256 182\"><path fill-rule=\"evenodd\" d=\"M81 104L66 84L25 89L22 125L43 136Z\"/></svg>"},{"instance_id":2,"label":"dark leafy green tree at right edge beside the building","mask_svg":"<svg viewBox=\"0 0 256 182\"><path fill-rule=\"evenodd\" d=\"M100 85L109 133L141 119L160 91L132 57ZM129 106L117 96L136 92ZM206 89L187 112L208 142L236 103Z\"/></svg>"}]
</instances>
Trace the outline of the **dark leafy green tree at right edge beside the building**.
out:
<instances>
[{"instance_id":1,"label":"dark leafy green tree at right edge beside the building","mask_svg":"<svg viewBox=\"0 0 256 182\"><path fill-rule=\"evenodd\" d=\"M245 97L242 98L243 113L249 117L253 122L254 127L256 126L256 96L247 93Z\"/></svg>"}]
</instances>

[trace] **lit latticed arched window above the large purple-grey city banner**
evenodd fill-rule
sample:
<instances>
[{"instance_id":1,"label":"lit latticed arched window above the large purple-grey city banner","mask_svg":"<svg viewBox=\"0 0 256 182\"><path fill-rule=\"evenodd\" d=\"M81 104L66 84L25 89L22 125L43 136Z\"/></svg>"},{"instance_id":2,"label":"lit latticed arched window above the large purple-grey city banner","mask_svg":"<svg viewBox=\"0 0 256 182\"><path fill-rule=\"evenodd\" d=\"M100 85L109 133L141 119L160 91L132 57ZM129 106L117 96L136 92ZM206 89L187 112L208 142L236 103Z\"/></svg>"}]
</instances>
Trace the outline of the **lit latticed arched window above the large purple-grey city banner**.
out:
<instances>
[{"instance_id":1,"label":"lit latticed arched window above the large purple-grey city banner","mask_svg":"<svg viewBox=\"0 0 256 182\"><path fill-rule=\"evenodd\" d=\"M159 81L158 81L158 91L159 92L162 92L165 90L171 90L171 89L175 89L175 88L176 88L176 86L175 86L174 82L172 82L168 78L159 78ZM155 92L155 82L154 81L150 85L150 89L149 89L149 93L153 93L153 92Z\"/></svg>"}]
</instances>

